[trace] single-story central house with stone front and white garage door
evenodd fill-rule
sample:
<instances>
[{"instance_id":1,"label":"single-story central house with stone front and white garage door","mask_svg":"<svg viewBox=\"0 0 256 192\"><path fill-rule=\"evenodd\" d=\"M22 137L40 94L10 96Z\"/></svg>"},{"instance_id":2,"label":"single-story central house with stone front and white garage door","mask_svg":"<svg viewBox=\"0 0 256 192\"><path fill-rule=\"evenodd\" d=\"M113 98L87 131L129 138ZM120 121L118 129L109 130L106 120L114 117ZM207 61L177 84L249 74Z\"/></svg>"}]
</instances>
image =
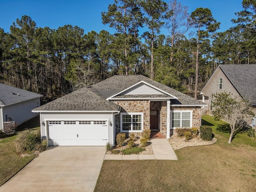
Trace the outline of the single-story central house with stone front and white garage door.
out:
<instances>
[{"instance_id":1,"label":"single-story central house with stone front and white garage door","mask_svg":"<svg viewBox=\"0 0 256 192\"><path fill-rule=\"evenodd\" d=\"M146 129L170 138L176 127L199 129L202 106L143 75L116 75L32 111L40 113L48 145L104 146L119 132L140 136Z\"/></svg>"}]
</instances>

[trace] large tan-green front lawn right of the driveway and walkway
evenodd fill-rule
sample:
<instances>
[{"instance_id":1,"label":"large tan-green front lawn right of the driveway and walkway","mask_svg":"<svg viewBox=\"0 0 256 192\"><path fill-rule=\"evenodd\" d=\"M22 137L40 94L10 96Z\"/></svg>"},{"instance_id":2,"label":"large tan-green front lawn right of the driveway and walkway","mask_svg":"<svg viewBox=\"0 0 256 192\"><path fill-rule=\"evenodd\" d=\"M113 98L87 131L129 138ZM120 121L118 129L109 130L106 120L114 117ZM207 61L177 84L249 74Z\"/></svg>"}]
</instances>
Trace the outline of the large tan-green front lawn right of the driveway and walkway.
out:
<instances>
[{"instance_id":1,"label":"large tan-green front lawn right of the driveway and walkway","mask_svg":"<svg viewBox=\"0 0 256 192\"><path fill-rule=\"evenodd\" d=\"M94 191L256 191L256 138L237 134L228 144L229 134L216 130L225 122L202 122L212 124L216 144L176 150L177 161L104 160Z\"/></svg>"}]
</instances>

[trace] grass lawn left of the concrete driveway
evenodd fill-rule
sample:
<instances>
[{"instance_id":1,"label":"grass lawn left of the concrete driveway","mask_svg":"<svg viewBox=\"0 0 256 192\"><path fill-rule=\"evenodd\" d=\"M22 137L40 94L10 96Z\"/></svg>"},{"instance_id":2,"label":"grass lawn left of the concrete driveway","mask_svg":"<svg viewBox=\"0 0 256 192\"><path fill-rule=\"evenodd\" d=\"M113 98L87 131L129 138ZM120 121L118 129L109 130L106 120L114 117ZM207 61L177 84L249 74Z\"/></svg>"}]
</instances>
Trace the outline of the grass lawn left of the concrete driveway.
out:
<instances>
[{"instance_id":1,"label":"grass lawn left of the concrete driveway","mask_svg":"<svg viewBox=\"0 0 256 192\"><path fill-rule=\"evenodd\" d=\"M38 128L40 121L37 118L33 118L25 124L21 124L18 127L18 130L24 130L25 128ZM34 156L20 157L16 153L16 137L17 135L12 135L0 139L0 186L34 159Z\"/></svg>"}]
</instances>

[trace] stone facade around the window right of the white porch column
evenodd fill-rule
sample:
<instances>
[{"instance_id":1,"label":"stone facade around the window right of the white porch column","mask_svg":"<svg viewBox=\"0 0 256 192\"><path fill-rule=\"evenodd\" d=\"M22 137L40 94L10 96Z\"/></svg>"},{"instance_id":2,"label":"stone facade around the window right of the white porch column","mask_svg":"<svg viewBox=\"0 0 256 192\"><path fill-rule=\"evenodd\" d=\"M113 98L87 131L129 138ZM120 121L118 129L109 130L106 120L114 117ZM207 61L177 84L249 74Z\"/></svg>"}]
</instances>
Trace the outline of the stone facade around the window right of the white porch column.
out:
<instances>
[{"instance_id":1,"label":"stone facade around the window right of the white porch column","mask_svg":"<svg viewBox=\"0 0 256 192\"><path fill-rule=\"evenodd\" d=\"M195 108L186 108L183 106L175 106L175 107L171 107L171 110L192 110L192 127L196 127L198 128L198 130L200 129L200 125L201 125L201 107L195 107Z\"/></svg>"}]
</instances>

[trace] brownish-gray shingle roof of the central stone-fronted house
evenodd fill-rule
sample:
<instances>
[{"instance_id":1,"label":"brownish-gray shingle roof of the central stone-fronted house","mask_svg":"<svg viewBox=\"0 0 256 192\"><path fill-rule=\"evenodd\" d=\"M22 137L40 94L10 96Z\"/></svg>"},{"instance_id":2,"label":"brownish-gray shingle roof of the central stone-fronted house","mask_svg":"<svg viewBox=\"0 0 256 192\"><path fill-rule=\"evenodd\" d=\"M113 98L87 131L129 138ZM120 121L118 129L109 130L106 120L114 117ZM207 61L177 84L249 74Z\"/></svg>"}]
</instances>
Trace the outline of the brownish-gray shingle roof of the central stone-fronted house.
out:
<instances>
[{"instance_id":1,"label":"brownish-gray shingle roof of the central stone-fronted house","mask_svg":"<svg viewBox=\"0 0 256 192\"><path fill-rule=\"evenodd\" d=\"M94 84L91 87L81 88L66 96L58 98L50 103L47 103L39 108L34 109L34 112L39 111L118 111L120 106L106 98L140 82L147 82L161 90L168 92L176 97L173 104L183 105L204 105L203 102L178 92L168 86L160 84L142 75L118 75L110 77L102 82ZM121 95L115 98L170 98L166 94L163 95Z\"/></svg>"}]
</instances>

